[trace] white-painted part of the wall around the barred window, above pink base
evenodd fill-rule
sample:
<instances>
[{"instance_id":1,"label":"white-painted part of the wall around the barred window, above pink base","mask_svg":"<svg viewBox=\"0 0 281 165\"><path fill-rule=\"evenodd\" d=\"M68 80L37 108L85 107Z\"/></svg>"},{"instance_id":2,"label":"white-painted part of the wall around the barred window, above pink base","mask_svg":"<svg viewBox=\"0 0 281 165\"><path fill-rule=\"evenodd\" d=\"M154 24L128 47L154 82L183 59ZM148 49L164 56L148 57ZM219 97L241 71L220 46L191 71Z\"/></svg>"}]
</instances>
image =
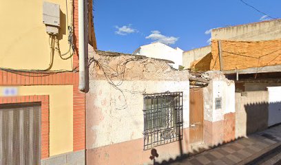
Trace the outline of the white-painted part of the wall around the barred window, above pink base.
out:
<instances>
[{"instance_id":1,"label":"white-painted part of the wall around the barred window, above pink base","mask_svg":"<svg viewBox=\"0 0 281 165\"><path fill-rule=\"evenodd\" d=\"M114 81L114 83L118 83ZM143 93L183 91L183 128L189 127L189 81L125 80L114 89L107 80L90 80L87 103L87 148L143 138ZM127 104L127 108L119 109Z\"/></svg>"}]
</instances>

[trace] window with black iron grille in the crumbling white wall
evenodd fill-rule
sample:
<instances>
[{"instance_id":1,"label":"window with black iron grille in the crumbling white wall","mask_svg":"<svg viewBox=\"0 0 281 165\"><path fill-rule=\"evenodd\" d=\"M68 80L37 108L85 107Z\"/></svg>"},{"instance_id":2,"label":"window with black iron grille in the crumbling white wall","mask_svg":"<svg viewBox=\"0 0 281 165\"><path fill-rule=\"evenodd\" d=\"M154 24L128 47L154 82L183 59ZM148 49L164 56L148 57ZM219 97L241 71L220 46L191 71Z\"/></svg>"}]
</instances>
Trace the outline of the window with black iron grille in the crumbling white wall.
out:
<instances>
[{"instance_id":1,"label":"window with black iron grille in the crumbling white wall","mask_svg":"<svg viewBox=\"0 0 281 165\"><path fill-rule=\"evenodd\" d=\"M183 92L144 94L144 150L183 139Z\"/></svg>"}]
</instances>

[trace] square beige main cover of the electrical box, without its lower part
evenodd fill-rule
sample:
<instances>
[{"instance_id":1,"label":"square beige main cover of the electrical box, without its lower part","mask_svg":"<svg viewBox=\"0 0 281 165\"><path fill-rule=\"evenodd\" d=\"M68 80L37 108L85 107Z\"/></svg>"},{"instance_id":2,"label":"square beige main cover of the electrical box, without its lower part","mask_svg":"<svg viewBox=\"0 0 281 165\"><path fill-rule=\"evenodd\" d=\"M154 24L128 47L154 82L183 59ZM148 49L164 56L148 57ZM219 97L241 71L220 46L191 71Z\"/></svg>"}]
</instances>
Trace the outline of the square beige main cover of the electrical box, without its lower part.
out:
<instances>
[{"instance_id":1,"label":"square beige main cover of the electrical box, without its lower part","mask_svg":"<svg viewBox=\"0 0 281 165\"><path fill-rule=\"evenodd\" d=\"M43 2L43 23L45 25L60 26L60 9L58 4Z\"/></svg>"}]
</instances>

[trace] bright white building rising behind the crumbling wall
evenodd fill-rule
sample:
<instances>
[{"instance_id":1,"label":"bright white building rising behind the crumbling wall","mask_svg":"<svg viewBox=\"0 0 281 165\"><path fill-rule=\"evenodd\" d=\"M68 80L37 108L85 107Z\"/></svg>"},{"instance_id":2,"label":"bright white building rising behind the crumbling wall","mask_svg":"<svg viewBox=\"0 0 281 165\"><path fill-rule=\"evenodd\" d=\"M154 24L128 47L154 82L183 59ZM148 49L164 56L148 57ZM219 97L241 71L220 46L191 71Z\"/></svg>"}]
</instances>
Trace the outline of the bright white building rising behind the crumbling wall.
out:
<instances>
[{"instance_id":1,"label":"bright white building rising behind the crumbling wall","mask_svg":"<svg viewBox=\"0 0 281 165\"><path fill-rule=\"evenodd\" d=\"M178 69L179 65L183 65L183 50L178 47L174 49L163 43L143 45L138 47L133 54L173 61L174 64L171 66L175 69Z\"/></svg>"}]
</instances>

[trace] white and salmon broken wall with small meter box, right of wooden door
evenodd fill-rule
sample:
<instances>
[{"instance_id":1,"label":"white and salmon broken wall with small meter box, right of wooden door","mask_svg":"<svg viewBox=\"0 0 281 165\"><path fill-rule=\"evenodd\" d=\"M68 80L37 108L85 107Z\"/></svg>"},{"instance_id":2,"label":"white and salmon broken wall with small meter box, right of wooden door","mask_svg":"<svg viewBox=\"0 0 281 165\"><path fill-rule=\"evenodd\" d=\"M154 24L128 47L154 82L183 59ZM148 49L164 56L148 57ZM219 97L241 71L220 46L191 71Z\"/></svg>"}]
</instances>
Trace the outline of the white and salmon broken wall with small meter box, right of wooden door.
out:
<instances>
[{"instance_id":1,"label":"white and salmon broken wall with small meter box, right of wooden door","mask_svg":"<svg viewBox=\"0 0 281 165\"><path fill-rule=\"evenodd\" d=\"M210 146L235 138L235 86L222 72L207 72L211 81L203 88L204 140Z\"/></svg>"}]
</instances>

